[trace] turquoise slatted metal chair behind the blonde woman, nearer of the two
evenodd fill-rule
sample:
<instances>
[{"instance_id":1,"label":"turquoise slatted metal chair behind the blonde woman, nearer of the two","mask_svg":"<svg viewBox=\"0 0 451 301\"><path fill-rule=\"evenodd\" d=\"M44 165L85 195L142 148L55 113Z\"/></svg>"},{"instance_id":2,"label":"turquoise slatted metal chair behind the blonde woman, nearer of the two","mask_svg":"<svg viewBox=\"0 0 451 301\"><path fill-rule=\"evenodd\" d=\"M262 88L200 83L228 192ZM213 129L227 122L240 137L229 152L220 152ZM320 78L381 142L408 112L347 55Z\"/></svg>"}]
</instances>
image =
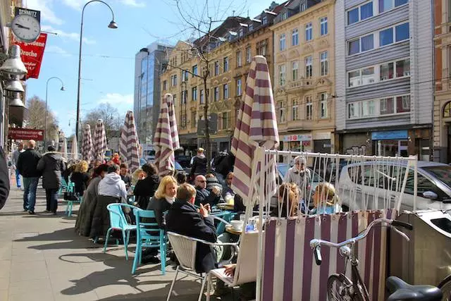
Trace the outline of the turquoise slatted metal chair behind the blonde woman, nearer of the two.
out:
<instances>
[{"instance_id":1,"label":"turquoise slatted metal chair behind the blonde woman, nearer of the two","mask_svg":"<svg viewBox=\"0 0 451 301\"><path fill-rule=\"evenodd\" d=\"M135 274L138 262L142 262L143 247L159 247L161 257L161 274L166 274L166 236L163 229L158 227L155 222L150 223L147 219L155 219L155 213L152 210L134 209L136 216L136 250L133 260L132 274Z\"/></svg>"}]
</instances>

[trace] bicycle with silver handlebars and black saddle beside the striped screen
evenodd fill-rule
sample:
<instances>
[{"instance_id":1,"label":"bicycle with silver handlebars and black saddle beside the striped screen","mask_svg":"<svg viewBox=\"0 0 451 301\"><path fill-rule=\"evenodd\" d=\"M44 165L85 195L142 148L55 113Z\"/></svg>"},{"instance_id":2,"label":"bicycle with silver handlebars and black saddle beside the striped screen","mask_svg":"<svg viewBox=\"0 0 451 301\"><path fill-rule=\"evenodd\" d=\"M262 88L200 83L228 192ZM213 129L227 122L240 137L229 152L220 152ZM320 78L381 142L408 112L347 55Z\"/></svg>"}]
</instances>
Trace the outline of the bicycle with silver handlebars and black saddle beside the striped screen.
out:
<instances>
[{"instance_id":1,"label":"bicycle with silver handlebars and black saddle beside the striped screen","mask_svg":"<svg viewBox=\"0 0 451 301\"><path fill-rule=\"evenodd\" d=\"M321 245L338 248L340 255L345 257L345 269L340 274L332 274L327 281L327 295L330 301L353 300L353 301L370 301L368 290L365 283L362 281L362 276L359 273L359 260L357 259L356 242L366 238L373 226L378 223L386 223L393 228L407 241L409 237L398 230L397 226L412 230L413 227L409 223L403 221L396 221L392 219L376 219L372 221L369 226L355 238L350 238L344 242L334 243L326 240L311 240L310 246L313 249L314 257L317 265L321 265ZM347 262L351 263L351 280L346 276ZM409 285L400 278L390 276L387 279L387 288L391 295L387 301L395 300L423 300L423 301L439 301L442 299L442 293L438 288L431 285Z\"/></svg>"}]
</instances>

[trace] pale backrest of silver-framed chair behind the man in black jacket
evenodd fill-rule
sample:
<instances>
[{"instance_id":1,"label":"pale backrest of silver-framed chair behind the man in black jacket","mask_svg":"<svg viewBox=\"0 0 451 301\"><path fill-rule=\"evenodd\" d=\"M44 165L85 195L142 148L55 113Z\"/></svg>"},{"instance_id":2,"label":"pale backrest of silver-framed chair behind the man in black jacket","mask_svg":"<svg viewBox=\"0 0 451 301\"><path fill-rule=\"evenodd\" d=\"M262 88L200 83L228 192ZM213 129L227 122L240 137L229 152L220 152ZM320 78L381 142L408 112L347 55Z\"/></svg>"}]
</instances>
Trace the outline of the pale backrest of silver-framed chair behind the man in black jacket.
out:
<instances>
[{"instance_id":1,"label":"pale backrest of silver-framed chair behind the man in black jacket","mask_svg":"<svg viewBox=\"0 0 451 301\"><path fill-rule=\"evenodd\" d=\"M190 237L168 232L168 238L183 269L195 271L197 242Z\"/></svg>"}]
</instances>

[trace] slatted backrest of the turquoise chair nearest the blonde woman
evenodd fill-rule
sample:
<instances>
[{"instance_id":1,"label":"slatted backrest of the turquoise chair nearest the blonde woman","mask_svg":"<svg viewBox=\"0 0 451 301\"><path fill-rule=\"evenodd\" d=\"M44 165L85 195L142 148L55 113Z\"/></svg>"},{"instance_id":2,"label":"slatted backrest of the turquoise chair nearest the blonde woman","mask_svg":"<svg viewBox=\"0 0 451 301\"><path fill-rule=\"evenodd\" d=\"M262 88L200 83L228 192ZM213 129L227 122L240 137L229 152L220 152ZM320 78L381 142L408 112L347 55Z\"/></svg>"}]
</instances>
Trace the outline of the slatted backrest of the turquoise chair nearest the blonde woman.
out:
<instances>
[{"instance_id":1,"label":"slatted backrest of the turquoise chair nearest the blonde woman","mask_svg":"<svg viewBox=\"0 0 451 301\"><path fill-rule=\"evenodd\" d=\"M160 229L158 223L155 220L155 212L153 210L142 210L139 208L133 209L133 213L136 216L136 228L138 239L150 240L150 242L156 242L163 239L164 231ZM154 221L149 221L153 219Z\"/></svg>"}]
</instances>

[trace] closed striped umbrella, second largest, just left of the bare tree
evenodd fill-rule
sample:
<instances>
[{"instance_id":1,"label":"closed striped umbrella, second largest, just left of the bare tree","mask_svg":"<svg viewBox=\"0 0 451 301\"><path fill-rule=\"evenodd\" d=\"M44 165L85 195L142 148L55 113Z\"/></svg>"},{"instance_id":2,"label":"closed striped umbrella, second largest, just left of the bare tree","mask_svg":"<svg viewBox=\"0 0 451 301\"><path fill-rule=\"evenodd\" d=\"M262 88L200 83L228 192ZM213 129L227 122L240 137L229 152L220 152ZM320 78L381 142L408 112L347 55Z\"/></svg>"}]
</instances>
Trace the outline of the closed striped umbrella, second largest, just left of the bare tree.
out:
<instances>
[{"instance_id":1,"label":"closed striped umbrella, second largest, just left of the bare tree","mask_svg":"<svg viewBox=\"0 0 451 301\"><path fill-rule=\"evenodd\" d=\"M164 94L161 102L158 123L156 123L154 149L155 164L159 176L166 176L175 171L175 149L180 148L178 142L177 121L172 94Z\"/></svg>"}]
</instances>

